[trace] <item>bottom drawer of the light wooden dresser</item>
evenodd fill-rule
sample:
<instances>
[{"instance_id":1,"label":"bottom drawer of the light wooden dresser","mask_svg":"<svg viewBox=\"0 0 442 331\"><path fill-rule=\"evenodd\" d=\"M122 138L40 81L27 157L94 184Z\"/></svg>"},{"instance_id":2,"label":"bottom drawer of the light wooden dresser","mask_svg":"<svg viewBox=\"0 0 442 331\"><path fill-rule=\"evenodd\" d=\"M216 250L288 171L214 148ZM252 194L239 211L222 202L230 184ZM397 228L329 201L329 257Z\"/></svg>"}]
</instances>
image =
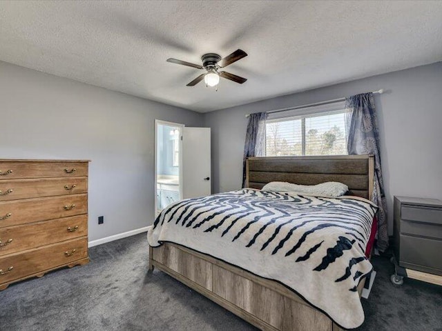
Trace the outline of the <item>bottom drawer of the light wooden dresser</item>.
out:
<instances>
[{"instance_id":1,"label":"bottom drawer of the light wooden dresser","mask_svg":"<svg viewBox=\"0 0 442 331\"><path fill-rule=\"evenodd\" d=\"M88 257L88 240L75 239L0 259L0 284Z\"/></svg>"}]
</instances>

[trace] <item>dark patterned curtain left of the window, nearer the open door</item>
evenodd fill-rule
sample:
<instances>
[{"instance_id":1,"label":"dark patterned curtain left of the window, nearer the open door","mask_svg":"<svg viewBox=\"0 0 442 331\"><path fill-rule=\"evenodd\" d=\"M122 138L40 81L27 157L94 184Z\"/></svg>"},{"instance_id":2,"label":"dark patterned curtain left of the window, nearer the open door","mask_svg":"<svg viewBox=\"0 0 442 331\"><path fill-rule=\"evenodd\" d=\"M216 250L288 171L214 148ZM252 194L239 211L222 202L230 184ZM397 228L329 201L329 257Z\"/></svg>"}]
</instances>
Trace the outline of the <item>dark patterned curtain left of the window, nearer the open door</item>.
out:
<instances>
[{"instance_id":1,"label":"dark patterned curtain left of the window, nearer the open door","mask_svg":"<svg viewBox=\"0 0 442 331\"><path fill-rule=\"evenodd\" d=\"M265 121L266 112L250 114L247 124L246 143L244 145L244 157L242 158L242 187L246 185L246 158L262 157L265 154Z\"/></svg>"}]
</instances>

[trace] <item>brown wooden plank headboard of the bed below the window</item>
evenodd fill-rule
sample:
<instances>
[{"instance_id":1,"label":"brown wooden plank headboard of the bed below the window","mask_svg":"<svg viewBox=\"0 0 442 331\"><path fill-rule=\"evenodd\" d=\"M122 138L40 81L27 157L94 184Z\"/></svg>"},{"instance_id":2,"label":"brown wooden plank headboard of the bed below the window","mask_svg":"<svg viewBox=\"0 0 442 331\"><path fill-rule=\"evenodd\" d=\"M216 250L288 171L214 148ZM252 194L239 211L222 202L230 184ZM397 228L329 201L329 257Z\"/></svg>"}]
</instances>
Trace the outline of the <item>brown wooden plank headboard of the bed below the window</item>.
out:
<instances>
[{"instance_id":1,"label":"brown wooden plank headboard of the bed below the window","mask_svg":"<svg viewBox=\"0 0 442 331\"><path fill-rule=\"evenodd\" d=\"M373 155L338 155L320 157L249 157L246 161L246 187L262 188L271 181L316 185L338 181L348 186L352 195L372 197Z\"/></svg>"}]
</instances>

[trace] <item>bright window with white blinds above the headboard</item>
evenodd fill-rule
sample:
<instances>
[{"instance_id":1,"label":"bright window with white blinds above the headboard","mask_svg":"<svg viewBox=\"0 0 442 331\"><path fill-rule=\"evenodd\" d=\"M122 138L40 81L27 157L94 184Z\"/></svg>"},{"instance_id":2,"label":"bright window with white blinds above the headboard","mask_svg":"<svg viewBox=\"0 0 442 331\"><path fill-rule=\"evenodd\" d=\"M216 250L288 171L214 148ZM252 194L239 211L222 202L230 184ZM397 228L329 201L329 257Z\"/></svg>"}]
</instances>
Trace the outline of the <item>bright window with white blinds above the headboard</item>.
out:
<instances>
[{"instance_id":1,"label":"bright window with white blinds above the headboard","mask_svg":"<svg viewBox=\"0 0 442 331\"><path fill-rule=\"evenodd\" d=\"M347 154L346 110L342 103L334 108L305 109L303 114L280 117L280 113L266 123L266 155L268 157L292 155ZM330 108L330 107L329 107ZM294 111L290 111L294 114ZM302 110L299 111L302 113ZM279 116L279 117L278 117ZM276 117L276 118L275 118Z\"/></svg>"}]
</instances>

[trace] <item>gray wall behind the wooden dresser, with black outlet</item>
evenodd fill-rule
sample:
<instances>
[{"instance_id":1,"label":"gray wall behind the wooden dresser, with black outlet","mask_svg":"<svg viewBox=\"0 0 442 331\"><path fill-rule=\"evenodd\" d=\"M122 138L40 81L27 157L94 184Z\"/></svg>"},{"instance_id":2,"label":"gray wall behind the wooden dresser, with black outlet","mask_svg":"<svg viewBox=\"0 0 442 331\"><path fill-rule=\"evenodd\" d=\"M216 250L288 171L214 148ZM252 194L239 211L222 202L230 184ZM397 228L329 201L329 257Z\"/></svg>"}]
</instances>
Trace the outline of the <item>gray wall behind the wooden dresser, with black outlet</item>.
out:
<instances>
[{"instance_id":1,"label":"gray wall behind the wooden dresser, with black outlet","mask_svg":"<svg viewBox=\"0 0 442 331\"><path fill-rule=\"evenodd\" d=\"M0 62L0 159L90 159L89 240L151 224L155 119L203 116ZM104 224L97 217L104 215Z\"/></svg>"}]
</instances>

